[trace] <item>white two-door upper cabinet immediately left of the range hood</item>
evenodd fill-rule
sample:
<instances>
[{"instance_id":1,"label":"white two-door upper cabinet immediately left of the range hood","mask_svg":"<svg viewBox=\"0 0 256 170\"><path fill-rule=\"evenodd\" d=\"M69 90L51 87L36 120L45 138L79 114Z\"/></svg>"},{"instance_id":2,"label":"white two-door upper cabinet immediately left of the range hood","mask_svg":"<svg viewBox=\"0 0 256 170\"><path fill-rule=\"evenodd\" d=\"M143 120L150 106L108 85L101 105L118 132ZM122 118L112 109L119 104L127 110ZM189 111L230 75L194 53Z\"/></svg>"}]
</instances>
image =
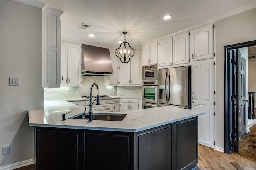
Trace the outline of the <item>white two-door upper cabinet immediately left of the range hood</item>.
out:
<instances>
[{"instance_id":1,"label":"white two-door upper cabinet immediately left of the range hood","mask_svg":"<svg viewBox=\"0 0 256 170\"><path fill-rule=\"evenodd\" d=\"M61 85L82 86L82 49L79 44L61 44Z\"/></svg>"}]
</instances>

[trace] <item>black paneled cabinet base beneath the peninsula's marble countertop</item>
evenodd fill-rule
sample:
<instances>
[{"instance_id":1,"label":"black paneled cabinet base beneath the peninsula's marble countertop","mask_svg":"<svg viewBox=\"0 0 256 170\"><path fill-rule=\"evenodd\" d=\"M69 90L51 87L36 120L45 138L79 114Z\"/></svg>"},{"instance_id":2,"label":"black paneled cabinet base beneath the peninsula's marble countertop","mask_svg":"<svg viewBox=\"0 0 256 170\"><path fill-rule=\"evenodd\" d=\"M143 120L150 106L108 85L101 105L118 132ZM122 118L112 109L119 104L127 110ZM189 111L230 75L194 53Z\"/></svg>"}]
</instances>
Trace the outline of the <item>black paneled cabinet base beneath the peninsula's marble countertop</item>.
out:
<instances>
[{"instance_id":1,"label":"black paneled cabinet base beneath the peninsula's marble countertop","mask_svg":"<svg viewBox=\"0 0 256 170\"><path fill-rule=\"evenodd\" d=\"M190 170L198 117L138 133L36 128L36 170Z\"/></svg>"}]
</instances>

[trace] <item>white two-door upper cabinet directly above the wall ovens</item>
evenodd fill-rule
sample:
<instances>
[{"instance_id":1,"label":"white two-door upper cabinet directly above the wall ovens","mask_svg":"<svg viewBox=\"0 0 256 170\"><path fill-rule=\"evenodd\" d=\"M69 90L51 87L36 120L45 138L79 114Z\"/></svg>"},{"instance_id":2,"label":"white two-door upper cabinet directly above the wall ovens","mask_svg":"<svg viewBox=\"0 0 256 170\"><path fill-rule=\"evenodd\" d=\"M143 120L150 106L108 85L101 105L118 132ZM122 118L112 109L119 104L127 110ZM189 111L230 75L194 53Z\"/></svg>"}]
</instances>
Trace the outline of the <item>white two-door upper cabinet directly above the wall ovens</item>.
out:
<instances>
[{"instance_id":1,"label":"white two-door upper cabinet directly above the wall ovens","mask_svg":"<svg viewBox=\"0 0 256 170\"><path fill-rule=\"evenodd\" d=\"M152 43L142 47L142 66L158 63L158 43Z\"/></svg>"}]
</instances>

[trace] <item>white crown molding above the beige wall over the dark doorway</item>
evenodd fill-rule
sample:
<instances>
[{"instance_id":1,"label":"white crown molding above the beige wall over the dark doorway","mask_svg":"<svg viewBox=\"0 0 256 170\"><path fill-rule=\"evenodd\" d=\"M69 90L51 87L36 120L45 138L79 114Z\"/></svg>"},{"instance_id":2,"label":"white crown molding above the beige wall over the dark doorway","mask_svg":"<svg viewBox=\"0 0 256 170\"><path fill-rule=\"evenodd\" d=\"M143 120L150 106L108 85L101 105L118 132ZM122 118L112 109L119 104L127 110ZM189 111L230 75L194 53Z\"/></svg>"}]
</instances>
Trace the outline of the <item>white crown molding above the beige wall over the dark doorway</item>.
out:
<instances>
[{"instance_id":1,"label":"white crown molding above the beige wall over the dark doorway","mask_svg":"<svg viewBox=\"0 0 256 170\"><path fill-rule=\"evenodd\" d=\"M235 9L235 10L232 10L230 12L226 12L224 14L221 14L219 16L216 16L216 17L213 17L211 18L212 20L214 21L218 21L218 20L222 20L224 18L227 18L227 17L230 17L230 16L233 16L233 15L236 15L236 14L239 14L241 12L245 12L245 11L248 11L248 10L251 10L251 9L254 9L256 8L256 2L252 3L252 4L249 4L247 6L243 6L241 8L238 8L238 9Z\"/></svg>"}]
</instances>

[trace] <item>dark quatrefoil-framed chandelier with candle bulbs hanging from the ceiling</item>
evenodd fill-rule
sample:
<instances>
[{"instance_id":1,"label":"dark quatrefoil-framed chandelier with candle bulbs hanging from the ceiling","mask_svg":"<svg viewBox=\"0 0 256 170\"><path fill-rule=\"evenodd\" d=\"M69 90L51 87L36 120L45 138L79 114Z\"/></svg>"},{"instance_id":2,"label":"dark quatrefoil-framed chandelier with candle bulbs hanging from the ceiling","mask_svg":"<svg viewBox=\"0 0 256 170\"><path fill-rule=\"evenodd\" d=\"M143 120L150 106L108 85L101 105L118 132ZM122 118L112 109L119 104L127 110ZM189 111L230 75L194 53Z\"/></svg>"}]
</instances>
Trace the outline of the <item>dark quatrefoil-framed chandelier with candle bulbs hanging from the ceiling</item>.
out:
<instances>
[{"instance_id":1,"label":"dark quatrefoil-framed chandelier with candle bulbs hanging from the ceiling","mask_svg":"<svg viewBox=\"0 0 256 170\"><path fill-rule=\"evenodd\" d=\"M116 49L116 56L119 57L122 63L128 63L132 56L134 56L134 49L125 40L127 32L123 32L124 42L120 44L120 47Z\"/></svg>"}]
</instances>

